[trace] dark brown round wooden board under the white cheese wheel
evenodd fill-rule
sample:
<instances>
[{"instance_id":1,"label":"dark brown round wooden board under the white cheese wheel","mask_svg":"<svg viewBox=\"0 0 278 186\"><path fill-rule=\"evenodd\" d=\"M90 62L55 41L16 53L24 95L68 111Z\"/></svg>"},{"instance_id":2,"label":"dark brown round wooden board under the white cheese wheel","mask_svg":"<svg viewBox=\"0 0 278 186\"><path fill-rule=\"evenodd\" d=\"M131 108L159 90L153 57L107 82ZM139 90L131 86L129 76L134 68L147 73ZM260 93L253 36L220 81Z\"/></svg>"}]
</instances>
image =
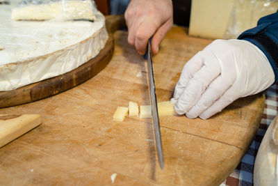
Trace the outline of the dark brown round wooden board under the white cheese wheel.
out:
<instances>
[{"instance_id":1,"label":"dark brown round wooden board under the white cheese wheel","mask_svg":"<svg viewBox=\"0 0 278 186\"><path fill-rule=\"evenodd\" d=\"M13 91L0 92L0 108L11 107L28 102L49 98L74 86L82 84L103 70L112 58L114 51L113 32L124 27L124 17L114 15L106 17L109 38L106 45L95 58L64 75L23 86Z\"/></svg>"}]
</instances>

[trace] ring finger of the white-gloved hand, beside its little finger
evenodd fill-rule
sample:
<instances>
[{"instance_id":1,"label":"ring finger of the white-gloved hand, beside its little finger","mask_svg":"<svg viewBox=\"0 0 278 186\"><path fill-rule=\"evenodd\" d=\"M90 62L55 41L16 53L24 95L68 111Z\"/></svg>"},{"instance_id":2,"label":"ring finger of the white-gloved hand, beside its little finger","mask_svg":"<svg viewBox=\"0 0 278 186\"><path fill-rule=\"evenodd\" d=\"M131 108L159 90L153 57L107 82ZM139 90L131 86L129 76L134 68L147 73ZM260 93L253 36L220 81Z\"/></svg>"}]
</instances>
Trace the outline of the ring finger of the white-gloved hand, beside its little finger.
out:
<instances>
[{"instance_id":1,"label":"ring finger of the white-gloved hand, beside its little finger","mask_svg":"<svg viewBox=\"0 0 278 186\"><path fill-rule=\"evenodd\" d=\"M197 118L208 107L221 98L221 96L232 86L234 82L225 79L223 76L218 76L203 93L197 103L186 113L188 118Z\"/></svg>"}]
</instances>

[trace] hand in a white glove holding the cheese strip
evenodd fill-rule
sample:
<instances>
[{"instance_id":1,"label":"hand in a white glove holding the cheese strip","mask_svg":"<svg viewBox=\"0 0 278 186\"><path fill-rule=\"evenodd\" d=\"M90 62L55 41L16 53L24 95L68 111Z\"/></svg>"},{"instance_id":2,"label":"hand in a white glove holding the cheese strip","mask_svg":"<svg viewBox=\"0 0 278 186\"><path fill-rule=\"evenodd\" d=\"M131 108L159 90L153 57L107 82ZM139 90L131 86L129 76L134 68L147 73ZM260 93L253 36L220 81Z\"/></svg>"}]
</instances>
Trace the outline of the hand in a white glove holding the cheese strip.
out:
<instances>
[{"instance_id":1,"label":"hand in a white glove holding the cheese strip","mask_svg":"<svg viewBox=\"0 0 278 186\"><path fill-rule=\"evenodd\" d=\"M174 91L177 114L207 119L275 82L261 50L246 40L215 40L183 67Z\"/></svg>"}]
</instances>

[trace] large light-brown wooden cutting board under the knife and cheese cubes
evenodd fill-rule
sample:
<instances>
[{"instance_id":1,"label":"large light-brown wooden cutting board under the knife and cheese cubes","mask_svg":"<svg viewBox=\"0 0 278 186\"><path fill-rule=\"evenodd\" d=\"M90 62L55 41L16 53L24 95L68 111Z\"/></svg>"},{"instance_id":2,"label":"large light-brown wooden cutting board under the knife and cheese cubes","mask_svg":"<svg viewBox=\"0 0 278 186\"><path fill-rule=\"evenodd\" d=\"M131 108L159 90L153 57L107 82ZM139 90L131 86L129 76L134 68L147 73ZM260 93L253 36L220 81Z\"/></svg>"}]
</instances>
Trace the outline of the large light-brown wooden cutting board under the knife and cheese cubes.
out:
<instances>
[{"instance_id":1,"label":"large light-brown wooden cutting board under the knife and cheese cubes","mask_svg":"<svg viewBox=\"0 0 278 186\"><path fill-rule=\"evenodd\" d=\"M186 33L174 27L154 56L158 101L170 100L183 65L211 42ZM117 106L149 104L146 62L126 42L126 31L114 38L111 62L92 79L0 109L42 116L40 126L0 148L0 185L219 185L236 168L261 120L264 95L237 100L206 121L161 116L161 170L151 119L112 120Z\"/></svg>"}]
</instances>

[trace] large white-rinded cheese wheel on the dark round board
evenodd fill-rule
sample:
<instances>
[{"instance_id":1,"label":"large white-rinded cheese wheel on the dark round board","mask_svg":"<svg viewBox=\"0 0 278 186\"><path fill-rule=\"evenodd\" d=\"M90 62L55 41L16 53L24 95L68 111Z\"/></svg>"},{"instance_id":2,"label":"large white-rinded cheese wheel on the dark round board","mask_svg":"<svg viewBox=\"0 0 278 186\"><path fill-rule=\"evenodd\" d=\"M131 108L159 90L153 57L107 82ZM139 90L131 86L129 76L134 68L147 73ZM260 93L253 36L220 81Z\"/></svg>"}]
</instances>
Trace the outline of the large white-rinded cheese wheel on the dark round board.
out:
<instances>
[{"instance_id":1,"label":"large white-rinded cheese wheel on the dark round board","mask_svg":"<svg viewBox=\"0 0 278 186\"><path fill-rule=\"evenodd\" d=\"M97 56L108 40L105 17L94 22L17 22L0 5L0 91L63 75Z\"/></svg>"}]
</instances>

